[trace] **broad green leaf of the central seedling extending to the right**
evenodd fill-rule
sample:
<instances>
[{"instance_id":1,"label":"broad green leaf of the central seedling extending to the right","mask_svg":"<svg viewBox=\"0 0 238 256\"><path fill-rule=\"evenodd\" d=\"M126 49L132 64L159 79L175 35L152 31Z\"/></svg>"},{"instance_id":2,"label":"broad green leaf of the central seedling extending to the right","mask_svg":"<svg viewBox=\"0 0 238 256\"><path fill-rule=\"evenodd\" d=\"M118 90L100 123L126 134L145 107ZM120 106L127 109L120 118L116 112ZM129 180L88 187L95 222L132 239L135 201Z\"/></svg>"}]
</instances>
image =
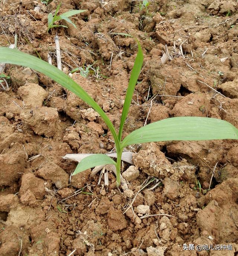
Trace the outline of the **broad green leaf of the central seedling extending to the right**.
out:
<instances>
[{"instance_id":1,"label":"broad green leaf of the central seedling extending to the right","mask_svg":"<svg viewBox=\"0 0 238 256\"><path fill-rule=\"evenodd\" d=\"M222 139L237 140L238 129L220 119L183 116L145 125L126 136L121 146L152 141Z\"/></svg>"}]
</instances>

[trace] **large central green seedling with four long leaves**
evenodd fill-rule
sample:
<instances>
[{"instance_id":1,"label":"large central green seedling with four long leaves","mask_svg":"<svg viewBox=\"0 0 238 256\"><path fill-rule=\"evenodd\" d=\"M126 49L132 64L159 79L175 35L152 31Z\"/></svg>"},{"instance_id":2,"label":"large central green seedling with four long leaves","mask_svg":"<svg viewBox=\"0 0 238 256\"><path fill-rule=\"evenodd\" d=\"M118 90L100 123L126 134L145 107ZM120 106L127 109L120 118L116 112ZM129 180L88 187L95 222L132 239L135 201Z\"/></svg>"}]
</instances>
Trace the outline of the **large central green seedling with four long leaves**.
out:
<instances>
[{"instance_id":1,"label":"large central green seedling with four long leaves","mask_svg":"<svg viewBox=\"0 0 238 256\"><path fill-rule=\"evenodd\" d=\"M125 36L126 34L118 33L118 35ZM104 122L107 124L107 127L110 129L110 132L112 133L113 139L115 141L117 160L114 161L105 154L91 154L90 156L87 156L80 161L73 175L95 166L114 164L116 167L116 181L117 185L119 186L122 153L123 149L129 145L148 143L152 141L173 140L238 140L238 129L232 124L220 119L194 116L163 119L161 121L157 121L145 125L144 127L141 127L139 129L136 129L122 139L123 126L129 112L135 85L137 83L143 63L143 53L141 45L137 39L135 40L138 44L138 52L136 55L134 67L131 71L131 77L129 79L128 88L126 91L125 103L122 109L119 131L116 131L116 128L113 126L106 113L89 96L89 94L85 90L83 90L83 88L81 88L81 86L79 86L73 79L64 74L57 67L54 67L53 65L50 65L47 62L42 61L32 55L17 51L16 49L0 47L0 63L2 62L22 65L45 74L46 76L61 84L71 92L75 93L75 95L80 97L91 108L97 111L104 120Z\"/></svg>"}]
</instances>

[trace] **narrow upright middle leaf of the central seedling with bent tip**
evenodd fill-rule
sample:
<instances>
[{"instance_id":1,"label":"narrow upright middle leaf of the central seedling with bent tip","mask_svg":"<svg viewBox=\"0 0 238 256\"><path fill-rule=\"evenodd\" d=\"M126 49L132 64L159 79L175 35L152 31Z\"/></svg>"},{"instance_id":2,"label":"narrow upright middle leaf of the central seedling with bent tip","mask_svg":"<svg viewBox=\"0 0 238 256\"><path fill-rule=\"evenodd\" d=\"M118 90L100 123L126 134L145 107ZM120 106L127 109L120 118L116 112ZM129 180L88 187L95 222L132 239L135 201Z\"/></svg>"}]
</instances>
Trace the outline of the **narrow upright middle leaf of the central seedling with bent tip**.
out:
<instances>
[{"instance_id":1,"label":"narrow upright middle leaf of the central seedling with bent tip","mask_svg":"<svg viewBox=\"0 0 238 256\"><path fill-rule=\"evenodd\" d=\"M117 35L131 36L128 34L123 34L123 33L118 33ZM132 99L132 96L133 96L133 93L135 90L135 85L136 85L137 79L141 72L142 64L143 64L143 52L141 49L141 44L139 43L139 41L136 38L134 38L134 39L136 40L136 42L138 44L138 52L136 55L134 66L131 71L131 77L129 80L129 84L128 84L128 88L127 88L127 92L126 92L125 103L124 103L123 110L122 110L122 117L120 119L120 128L119 128L119 134L118 134L119 141L122 138L123 126L126 121L126 117L128 115L129 108L131 106L131 99Z\"/></svg>"}]
</instances>

